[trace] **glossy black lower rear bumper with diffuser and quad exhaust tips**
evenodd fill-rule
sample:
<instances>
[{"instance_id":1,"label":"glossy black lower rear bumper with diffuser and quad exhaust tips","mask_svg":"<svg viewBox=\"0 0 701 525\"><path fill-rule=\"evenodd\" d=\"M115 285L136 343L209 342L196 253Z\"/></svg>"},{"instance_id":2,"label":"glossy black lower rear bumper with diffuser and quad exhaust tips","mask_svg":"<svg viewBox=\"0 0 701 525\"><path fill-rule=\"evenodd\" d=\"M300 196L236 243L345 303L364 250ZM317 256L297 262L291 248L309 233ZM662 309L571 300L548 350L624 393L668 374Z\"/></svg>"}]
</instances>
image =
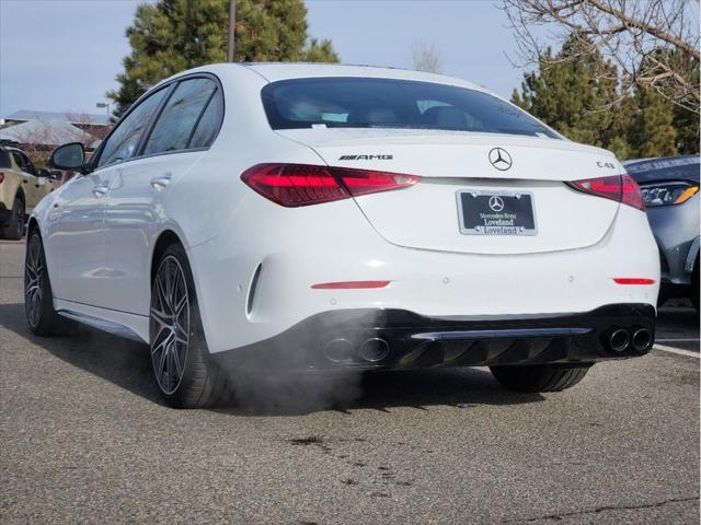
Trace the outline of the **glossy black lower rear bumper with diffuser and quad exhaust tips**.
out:
<instances>
[{"instance_id":1,"label":"glossy black lower rear bumper with diffuser and quad exhaust tips","mask_svg":"<svg viewBox=\"0 0 701 525\"><path fill-rule=\"evenodd\" d=\"M612 348L617 330L630 341L624 348ZM636 303L578 314L469 318L341 310L313 315L275 337L212 359L230 370L577 365L643 355L652 348L654 331L655 308ZM622 342L621 332L617 335Z\"/></svg>"}]
</instances>

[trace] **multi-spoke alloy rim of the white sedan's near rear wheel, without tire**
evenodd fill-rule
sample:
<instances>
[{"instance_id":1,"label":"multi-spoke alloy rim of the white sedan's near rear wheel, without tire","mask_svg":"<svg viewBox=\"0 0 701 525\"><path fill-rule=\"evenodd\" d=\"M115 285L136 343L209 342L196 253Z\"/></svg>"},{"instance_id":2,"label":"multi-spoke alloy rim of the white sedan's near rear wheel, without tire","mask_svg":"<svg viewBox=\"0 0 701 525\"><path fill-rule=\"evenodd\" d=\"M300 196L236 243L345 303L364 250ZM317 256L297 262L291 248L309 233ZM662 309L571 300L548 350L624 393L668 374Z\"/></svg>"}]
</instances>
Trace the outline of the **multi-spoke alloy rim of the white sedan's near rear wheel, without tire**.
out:
<instances>
[{"instance_id":1,"label":"multi-spoke alloy rim of the white sedan's near rear wheel, without tire","mask_svg":"<svg viewBox=\"0 0 701 525\"><path fill-rule=\"evenodd\" d=\"M173 256L161 261L151 291L151 363L164 394L173 394L185 372L189 342L189 298L183 268Z\"/></svg>"}]
</instances>

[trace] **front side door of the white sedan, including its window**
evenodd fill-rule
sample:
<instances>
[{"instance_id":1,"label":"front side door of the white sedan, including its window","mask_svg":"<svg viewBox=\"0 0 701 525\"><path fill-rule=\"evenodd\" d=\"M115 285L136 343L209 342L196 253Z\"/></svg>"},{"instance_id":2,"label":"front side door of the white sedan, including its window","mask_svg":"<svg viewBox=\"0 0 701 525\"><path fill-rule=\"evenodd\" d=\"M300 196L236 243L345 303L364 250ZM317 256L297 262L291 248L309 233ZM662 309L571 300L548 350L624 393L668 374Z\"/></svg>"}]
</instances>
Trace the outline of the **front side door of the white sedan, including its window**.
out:
<instances>
[{"instance_id":1,"label":"front side door of the white sedan, including its window","mask_svg":"<svg viewBox=\"0 0 701 525\"><path fill-rule=\"evenodd\" d=\"M57 299L114 308L105 267L105 207L110 184L135 155L142 132L165 95L160 90L138 102L115 126L93 161L92 172L73 177L54 206L60 208L49 242L59 254Z\"/></svg>"}]
</instances>

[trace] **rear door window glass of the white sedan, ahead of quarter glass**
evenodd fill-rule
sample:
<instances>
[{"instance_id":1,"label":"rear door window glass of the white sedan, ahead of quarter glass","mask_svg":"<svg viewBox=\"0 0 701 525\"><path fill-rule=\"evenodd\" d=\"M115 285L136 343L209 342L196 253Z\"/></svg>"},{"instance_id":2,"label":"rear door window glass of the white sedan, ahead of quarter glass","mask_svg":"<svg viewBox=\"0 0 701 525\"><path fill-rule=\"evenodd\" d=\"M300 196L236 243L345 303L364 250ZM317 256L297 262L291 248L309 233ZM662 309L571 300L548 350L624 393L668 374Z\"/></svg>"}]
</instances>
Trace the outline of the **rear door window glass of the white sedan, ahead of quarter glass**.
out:
<instances>
[{"instance_id":1,"label":"rear door window glass of the white sedan, ahead of quarter glass","mask_svg":"<svg viewBox=\"0 0 701 525\"><path fill-rule=\"evenodd\" d=\"M193 128L216 89L209 79L184 80L177 84L153 126L143 154L187 149Z\"/></svg>"}]
</instances>

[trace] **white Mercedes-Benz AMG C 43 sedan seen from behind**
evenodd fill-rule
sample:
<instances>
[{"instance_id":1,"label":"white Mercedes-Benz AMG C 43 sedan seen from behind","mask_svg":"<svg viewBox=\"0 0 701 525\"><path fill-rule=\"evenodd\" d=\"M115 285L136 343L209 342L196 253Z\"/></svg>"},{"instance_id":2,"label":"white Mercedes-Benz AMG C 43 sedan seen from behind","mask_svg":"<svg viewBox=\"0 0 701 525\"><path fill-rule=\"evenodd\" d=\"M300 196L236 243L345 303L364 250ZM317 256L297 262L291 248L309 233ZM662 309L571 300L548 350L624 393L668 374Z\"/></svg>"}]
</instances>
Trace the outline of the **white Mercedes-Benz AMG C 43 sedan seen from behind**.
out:
<instances>
[{"instance_id":1,"label":"white Mercedes-Benz AMG C 43 sedan seen from behind","mask_svg":"<svg viewBox=\"0 0 701 525\"><path fill-rule=\"evenodd\" d=\"M28 222L26 317L150 346L175 407L249 371L490 366L567 388L650 351L635 182L459 79L216 65L149 90ZM233 384L232 384L233 383Z\"/></svg>"}]
</instances>

